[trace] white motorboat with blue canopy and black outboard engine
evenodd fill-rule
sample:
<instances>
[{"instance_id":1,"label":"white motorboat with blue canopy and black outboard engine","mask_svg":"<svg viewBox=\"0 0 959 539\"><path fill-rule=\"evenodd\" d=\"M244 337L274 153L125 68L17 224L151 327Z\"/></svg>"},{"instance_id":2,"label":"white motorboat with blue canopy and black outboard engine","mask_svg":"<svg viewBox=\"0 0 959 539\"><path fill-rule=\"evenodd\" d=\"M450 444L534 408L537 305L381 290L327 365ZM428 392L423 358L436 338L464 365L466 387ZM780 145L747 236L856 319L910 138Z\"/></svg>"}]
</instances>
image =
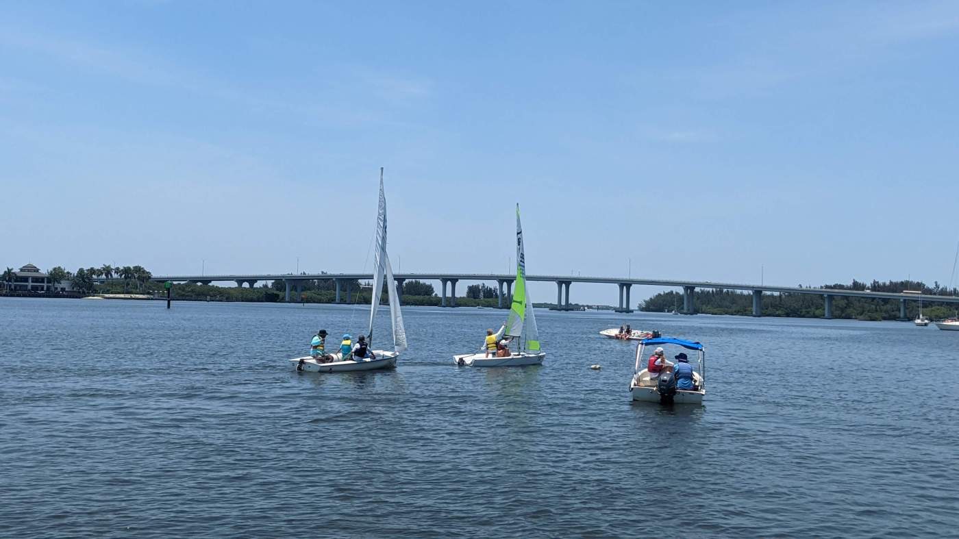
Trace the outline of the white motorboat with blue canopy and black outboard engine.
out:
<instances>
[{"instance_id":1,"label":"white motorboat with blue canopy and black outboard engine","mask_svg":"<svg viewBox=\"0 0 959 539\"><path fill-rule=\"evenodd\" d=\"M668 373L668 376L664 374L651 375L648 368L641 368L643 365L648 366L643 354L646 346L678 346L698 352L698 361L692 373L694 389L676 388L671 372ZM666 383L667 378L672 379L671 384ZM662 404L703 404L703 398L706 396L706 351L703 345L699 342L672 337L641 340L636 347L636 363L633 368L633 377L629 381L629 392L634 401Z\"/></svg>"}]
</instances>

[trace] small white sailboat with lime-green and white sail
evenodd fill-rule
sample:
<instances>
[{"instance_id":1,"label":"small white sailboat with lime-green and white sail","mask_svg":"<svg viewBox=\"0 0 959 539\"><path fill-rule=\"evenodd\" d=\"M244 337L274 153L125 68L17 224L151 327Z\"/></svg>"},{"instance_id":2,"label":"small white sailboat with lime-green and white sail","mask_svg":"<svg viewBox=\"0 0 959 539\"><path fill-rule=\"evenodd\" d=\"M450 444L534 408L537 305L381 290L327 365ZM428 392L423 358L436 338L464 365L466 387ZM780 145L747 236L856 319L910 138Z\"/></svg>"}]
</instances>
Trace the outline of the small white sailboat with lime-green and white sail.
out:
<instances>
[{"instance_id":1,"label":"small white sailboat with lime-green and white sail","mask_svg":"<svg viewBox=\"0 0 959 539\"><path fill-rule=\"evenodd\" d=\"M509 356L498 358L486 356L485 350L479 354L459 354L453 356L460 366L521 366L542 364L546 352L540 349L539 331L536 328L536 314L533 302L526 290L526 255L523 249L523 226L520 224L520 205L516 204L516 284L513 288L513 302L509 316L503 325L503 336L517 348Z\"/></svg>"}]
</instances>

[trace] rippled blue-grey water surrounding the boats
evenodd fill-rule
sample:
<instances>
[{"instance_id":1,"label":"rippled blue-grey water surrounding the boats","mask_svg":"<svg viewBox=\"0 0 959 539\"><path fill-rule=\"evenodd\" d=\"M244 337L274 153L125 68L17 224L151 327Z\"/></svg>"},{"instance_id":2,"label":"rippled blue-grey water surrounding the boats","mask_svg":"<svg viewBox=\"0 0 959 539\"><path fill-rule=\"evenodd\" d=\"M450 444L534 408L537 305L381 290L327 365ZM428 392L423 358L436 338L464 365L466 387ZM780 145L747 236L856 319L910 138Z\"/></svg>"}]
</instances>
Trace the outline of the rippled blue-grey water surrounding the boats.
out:
<instances>
[{"instance_id":1,"label":"rippled blue-grey water surrounding the boats","mask_svg":"<svg viewBox=\"0 0 959 539\"><path fill-rule=\"evenodd\" d=\"M365 310L163 307L0 299L0 535L959 526L959 334L935 327L538 312L546 364L482 370L451 356L504 312L408 308L399 368L319 375L287 359ZM707 345L705 407L631 404L632 345L596 335L624 320Z\"/></svg>"}]
</instances>

